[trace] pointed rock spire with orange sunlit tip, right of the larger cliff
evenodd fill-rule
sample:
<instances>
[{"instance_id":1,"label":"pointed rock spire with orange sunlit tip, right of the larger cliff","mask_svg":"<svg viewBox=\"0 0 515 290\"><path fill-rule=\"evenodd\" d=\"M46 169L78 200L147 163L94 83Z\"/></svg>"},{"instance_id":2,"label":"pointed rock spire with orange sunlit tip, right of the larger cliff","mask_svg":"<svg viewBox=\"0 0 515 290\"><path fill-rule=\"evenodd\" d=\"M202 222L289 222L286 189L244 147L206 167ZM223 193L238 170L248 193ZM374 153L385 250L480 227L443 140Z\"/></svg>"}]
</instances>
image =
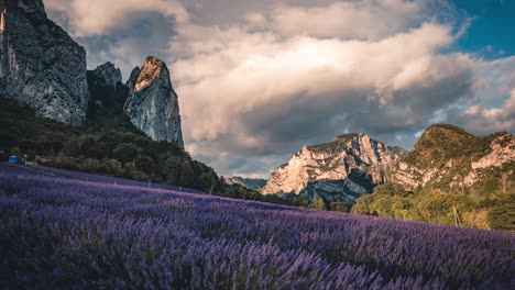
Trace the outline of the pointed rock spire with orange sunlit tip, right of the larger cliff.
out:
<instances>
[{"instance_id":1,"label":"pointed rock spire with orange sunlit tip, right of the larger cliff","mask_svg":"<svg viewBox=\"0 0 515 290\"><path fill-rule=\"evenodd\" d=\"M178 97L162 60L147 57L134 68L127 82L129 97L123 111L132 124L155 141L168 141L184 148Z\"/></svg>"}]
</instances>

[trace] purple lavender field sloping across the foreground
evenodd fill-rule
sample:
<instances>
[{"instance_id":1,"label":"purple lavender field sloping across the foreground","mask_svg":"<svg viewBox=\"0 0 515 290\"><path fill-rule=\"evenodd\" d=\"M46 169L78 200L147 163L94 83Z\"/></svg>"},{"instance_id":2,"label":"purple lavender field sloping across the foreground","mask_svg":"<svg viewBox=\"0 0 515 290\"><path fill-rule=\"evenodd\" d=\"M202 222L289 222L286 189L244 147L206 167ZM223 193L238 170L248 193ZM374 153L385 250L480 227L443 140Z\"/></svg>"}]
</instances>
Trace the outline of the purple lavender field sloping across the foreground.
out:
<instances>
[{"instance_id":1,"label":"purple lavender field sloping across the foreground","mask_svg":"<svg viewBox=\"0 0 515 290\"><path fill-rule=\"evenodd\" d=\"M2 289L509 289L515 235L0 172Z\"/></svg>"}]
</instances>

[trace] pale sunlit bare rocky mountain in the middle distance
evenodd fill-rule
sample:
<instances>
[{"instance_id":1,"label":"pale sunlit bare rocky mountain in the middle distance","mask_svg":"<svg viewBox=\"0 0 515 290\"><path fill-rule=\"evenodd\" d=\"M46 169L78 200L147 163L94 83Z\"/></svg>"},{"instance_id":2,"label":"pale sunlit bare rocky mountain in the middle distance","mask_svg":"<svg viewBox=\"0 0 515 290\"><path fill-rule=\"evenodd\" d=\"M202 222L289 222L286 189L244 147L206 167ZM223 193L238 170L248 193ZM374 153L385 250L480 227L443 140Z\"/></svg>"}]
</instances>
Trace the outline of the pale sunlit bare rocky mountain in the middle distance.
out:
<instances>
[{"instance_id":1,"label":"pale sunlit bare rocky mountain in the middle distance","mask_svg":"<svg viewBox=\"0 0 515 290\"><path fill-rule=\"evenodd\" d=\"M342 183L343 187L340 187L339 191L353 188L352 194L363 194L371 192L372 186L387 181L396 161L406 153L402 148L390 147L364 134L342 135L325 144L304 146L287 164L272 174L262 192L306 193L309 192L309 188L306 188L311 182L346 180L355 171L370 178L370 182L362 186L350 179L347 183ZM324 182L316 183L317 187L320 185L327 186Z\"/></svg>"}]
</instances>

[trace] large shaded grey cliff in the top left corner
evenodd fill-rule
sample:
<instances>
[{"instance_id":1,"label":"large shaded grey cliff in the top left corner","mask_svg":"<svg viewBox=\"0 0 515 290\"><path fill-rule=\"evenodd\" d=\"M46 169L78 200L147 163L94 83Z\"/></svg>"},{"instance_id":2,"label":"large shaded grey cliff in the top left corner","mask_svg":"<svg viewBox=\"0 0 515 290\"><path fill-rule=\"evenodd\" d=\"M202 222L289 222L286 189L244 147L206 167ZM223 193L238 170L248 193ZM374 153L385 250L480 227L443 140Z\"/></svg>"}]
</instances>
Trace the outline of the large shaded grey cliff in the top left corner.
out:
<instances>
[{"instance_id":1,"label":"large shaded grey cliff in the top left corner","mask_svg":"<svg viewBox=\"0 0 515 290\"><path fill-rule=\"evenodd\" d=\"M86 118L86 52L41 0L0 1L0 94L58 122Z\"/></svg>"}]
</instances>

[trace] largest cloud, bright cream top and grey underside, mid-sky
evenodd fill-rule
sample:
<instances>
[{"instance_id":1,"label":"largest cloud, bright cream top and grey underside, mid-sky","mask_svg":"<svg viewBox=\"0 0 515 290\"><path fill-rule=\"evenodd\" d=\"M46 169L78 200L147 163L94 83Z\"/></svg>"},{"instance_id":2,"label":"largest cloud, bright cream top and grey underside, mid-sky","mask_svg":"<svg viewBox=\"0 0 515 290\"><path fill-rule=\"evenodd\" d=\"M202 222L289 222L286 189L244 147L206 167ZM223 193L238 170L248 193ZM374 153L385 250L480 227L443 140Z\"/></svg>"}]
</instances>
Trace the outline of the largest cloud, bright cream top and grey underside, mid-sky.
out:
<instances>
[{"instance_id":1,"label":"largest cloud, bright cream top and grey underside, mid-sky","mask_svg":"<svg viewBox=\"0 0 515 290\"><path fill-rule=\"evenodd\" d=\"M206 154L212 145L204 145L221 142L222 153L281 154L349 125L370 133L418 126L469 88L471 59L439 54L452 40L436 23L377 41L244 27L179 32L176 49L190 53L174 64L187 98L185 129L190 144L202 144L191 150Z\"/></svg>"}]
</instances>

